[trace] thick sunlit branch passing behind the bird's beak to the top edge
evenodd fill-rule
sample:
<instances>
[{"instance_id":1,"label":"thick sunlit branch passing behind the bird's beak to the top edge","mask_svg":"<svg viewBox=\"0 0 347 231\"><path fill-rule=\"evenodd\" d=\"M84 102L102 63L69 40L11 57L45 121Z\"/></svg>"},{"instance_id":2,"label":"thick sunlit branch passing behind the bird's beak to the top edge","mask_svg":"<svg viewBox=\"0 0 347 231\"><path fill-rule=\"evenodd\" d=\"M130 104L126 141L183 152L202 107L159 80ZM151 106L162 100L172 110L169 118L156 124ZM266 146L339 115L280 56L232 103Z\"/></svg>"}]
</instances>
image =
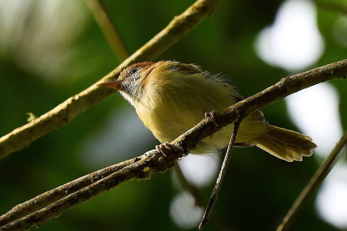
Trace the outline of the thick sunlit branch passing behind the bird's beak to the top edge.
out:
<instances>
[{"instance_id":1,"label":"thick sunlit branch passing behind the bird's beak to the top edge","mask_svg":"<svg viewBox=\"0 0 347 231\"><path fill-rule=\"evenodd\" d=\"M190 32L203 19L210 16L220 0L197 0L192 6L169 23L161 32L155 35L143 47L122 62L116 69L94 83L79 94L66 101L34 121L18 127L0 138L0 158L28 147L41 136L69 123L95 103L108 97L115 91L108 88L98 88L96 85L117 79L121 70L129 64L153 60L170 46Z\"/></svg>"}]
</instances>

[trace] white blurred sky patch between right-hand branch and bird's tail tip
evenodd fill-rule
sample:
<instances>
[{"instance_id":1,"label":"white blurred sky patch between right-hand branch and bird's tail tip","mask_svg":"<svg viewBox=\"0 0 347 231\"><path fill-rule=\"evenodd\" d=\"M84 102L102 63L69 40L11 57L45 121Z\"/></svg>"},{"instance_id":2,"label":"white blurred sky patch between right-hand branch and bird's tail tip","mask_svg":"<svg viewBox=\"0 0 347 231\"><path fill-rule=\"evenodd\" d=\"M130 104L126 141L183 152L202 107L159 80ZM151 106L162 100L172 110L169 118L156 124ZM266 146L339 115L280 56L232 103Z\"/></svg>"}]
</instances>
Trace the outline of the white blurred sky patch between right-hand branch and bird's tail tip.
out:
<instances>
[{"instance_id":1,"label":"white blurred sky patch between right-hand branch and bird's tail tip","mask_svg":"<svg viewBox=\"0 0 347 231\"><path fill-rule=\"evenodd\" d=\"M285 99L290 118L318 145L314 154L327 157L343 133L335 87L320 83Z\"/></svg>"}]
</instances>

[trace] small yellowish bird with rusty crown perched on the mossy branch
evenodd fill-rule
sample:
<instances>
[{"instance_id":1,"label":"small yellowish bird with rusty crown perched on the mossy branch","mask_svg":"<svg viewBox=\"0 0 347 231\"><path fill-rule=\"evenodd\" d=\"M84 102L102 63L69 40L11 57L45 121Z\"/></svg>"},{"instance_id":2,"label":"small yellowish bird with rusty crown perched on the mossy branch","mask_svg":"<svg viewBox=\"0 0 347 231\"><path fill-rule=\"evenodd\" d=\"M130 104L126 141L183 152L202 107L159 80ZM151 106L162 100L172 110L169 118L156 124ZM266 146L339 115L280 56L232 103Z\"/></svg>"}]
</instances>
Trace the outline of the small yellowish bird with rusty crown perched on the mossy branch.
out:
<instances>
[{"instance_id":1,"label":"small yellowish bird with rusty crown perched on the mossy branch","mask_svg":"<svg viewBox=\"0 0 347 231\"><path fill-rule=\"evenodd\" d=\"M169 143L215 113L243 100L234 86L217 74L203 71L196 64L177 61L141 62L123 69L116 81L98 87L116 89L135 108L144 125L162 144L165 156ZM190 154L214 155L225 148L234 124L200 141ZM256 111L243 119L236 135L236 147L257 146L286 161L302 161L317 147L308 135L270 125Z\"/></svg>"}]
</instances>

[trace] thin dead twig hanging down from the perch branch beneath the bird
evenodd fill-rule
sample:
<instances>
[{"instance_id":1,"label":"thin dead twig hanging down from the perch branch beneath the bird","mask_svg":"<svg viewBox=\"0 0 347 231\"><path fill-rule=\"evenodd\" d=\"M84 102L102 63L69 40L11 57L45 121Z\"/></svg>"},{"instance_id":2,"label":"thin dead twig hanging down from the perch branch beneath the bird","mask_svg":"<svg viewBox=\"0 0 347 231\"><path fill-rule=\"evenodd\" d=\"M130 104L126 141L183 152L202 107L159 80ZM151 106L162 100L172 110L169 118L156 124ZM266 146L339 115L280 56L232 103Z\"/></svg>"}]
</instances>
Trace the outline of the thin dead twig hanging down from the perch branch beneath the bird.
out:
<instances>
[{"instance_id":1,"label":"thin dead twig hanging down from the perch branch beneath the bird","mask_svg":"<svg viewBox=\"0 0 347 231\"><path fill-rule=\"evenodd\" d=\"M209 221L210 214L212 212L212 207L213 207L214 203L217 201L218 192L219 192L220 186L222 185L222 180L224 178L225 172L227 170L227 167L228 167L228 164L230 161L232 148L234 148L235 140L236 140L236 134L237 134L237 131L240 127L240 123L241 123L242 119L243 119L243 117L238 116L237 121L235 121L235 123L234 123L234 130L232 131L232 135L231 135L231 138L229 141L227 153L225 154L225 158L224 158L222 167L220 169L216 184L213 188L210 202L206 207L205 213L204 213L202 220L201 220L201 223L199 225L199 228L198 228L199 230L202 230L204 228L204 225L207 224L207 222Z\"/></svg>"}]
</instances>

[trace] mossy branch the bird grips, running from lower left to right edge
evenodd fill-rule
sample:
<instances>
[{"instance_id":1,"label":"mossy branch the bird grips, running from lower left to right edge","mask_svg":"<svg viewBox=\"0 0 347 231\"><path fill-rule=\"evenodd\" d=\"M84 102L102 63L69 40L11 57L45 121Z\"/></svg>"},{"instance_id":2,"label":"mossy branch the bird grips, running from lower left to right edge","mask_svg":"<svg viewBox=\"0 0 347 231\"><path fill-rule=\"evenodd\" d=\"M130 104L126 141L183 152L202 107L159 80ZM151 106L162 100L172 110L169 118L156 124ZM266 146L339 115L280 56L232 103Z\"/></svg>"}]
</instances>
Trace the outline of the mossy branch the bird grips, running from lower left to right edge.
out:
<instances>
[{"instance_id":1,"label":"mossy branch the bird grips, running from lower left to right edge","mask_svg":"<svg viewBox=\"0 0 347 231\"><path fill-rule=\"evenodd\" d=\"M209 120L203 120L191 130L180 135L171 142L172 148L167 150L167 157L159 151L146 152L141 157L133 159L129 165L116 171L89 186L86 186L68 196L54 202L41 210L31 213L21 219L1 227L1 230L23 230L33 225L41 225L52 217L57 217L69 207L80 204L105 190L117 187L120 183L133 178L148 179L154 172L163 172L174 166L177 158L189 152L204 138L220 130L220 127L234 123L240 116L242 118L263 108L265 105L282 99L294 92L332 79L346 78L347 60L331 63L295 76L281 79L275 85L242 100L221 113L215 114L219 127ZM100 175L101 177L101 175ZM99 178L98 178L99 179Z\"/></svg>"}]
</instances>

